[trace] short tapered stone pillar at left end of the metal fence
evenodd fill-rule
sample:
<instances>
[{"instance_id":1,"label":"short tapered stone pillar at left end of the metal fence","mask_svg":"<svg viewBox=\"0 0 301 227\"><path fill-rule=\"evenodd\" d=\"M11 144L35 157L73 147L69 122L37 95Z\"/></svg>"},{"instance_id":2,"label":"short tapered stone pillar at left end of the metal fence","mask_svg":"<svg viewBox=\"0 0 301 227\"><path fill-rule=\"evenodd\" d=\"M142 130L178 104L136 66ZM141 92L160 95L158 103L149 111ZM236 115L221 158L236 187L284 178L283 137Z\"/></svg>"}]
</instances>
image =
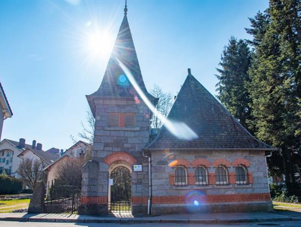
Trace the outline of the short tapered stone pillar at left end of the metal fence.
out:
<instances>
[{"instance_id":1,"label":"short tapered stone pillar at left end of the metal fence","mask_svg":"<svg viewBox=\"0 0 301 227\"><path fill-rule=\"evenodd\" d=\"M31 196L28 213L44 213L45 185L43 181L38 181L35 190Z\"/></svg>"}]
</instances>

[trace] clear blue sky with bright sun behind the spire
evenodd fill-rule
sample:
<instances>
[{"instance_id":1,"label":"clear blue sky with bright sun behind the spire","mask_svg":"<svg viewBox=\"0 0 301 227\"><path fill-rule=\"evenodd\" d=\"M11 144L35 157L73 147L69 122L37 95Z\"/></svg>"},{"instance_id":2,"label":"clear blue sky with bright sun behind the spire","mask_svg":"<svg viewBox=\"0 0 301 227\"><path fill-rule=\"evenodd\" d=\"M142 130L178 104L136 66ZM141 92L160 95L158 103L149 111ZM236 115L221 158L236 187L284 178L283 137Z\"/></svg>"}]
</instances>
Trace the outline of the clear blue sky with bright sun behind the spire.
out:
<instances>
[{"instance_id":1,"label":"clear blue sky with bright sun behind the spire","mask_svg":"<svg viewBox=\"0 0 301 227\"><path fill-rule=\"evenodd\" d=\"M191 68L215 95L224 45L231 35L250 38L244 30L248 17L264 11L268 1L128 0L127 5L146 88L157 83L176 95ZM85 95L100 86L123 8L122 0L0 1L0 80L14 114L4 122L2 139L23 137L29 144L35 139L44 150L72 145L70 135L85 122ZM101 51L93 52L94 46Z\"/></svg>"}]
</instances>

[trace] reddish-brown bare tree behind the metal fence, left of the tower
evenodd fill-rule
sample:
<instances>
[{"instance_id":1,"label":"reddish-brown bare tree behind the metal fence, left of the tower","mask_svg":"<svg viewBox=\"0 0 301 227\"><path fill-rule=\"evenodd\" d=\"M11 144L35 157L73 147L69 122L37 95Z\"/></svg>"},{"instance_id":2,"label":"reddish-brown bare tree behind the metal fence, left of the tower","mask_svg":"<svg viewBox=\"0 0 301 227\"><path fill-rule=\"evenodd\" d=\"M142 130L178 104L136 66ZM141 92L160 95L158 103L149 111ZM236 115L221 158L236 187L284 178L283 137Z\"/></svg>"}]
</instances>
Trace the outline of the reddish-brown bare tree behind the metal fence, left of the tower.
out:
<instances>
[{"instance_id":1,"label":"reddish-brown bare tree behind the metal fence, left of the tower","mask_svg":"<svg viewBox=\"0 0 301 227\"><path fill-rule=\"evenodd\" d=\"M61 160L55 172L55 178L66 185L81 185L81 167L84 159L67 156Z\"/></svg>"}]
</instances>

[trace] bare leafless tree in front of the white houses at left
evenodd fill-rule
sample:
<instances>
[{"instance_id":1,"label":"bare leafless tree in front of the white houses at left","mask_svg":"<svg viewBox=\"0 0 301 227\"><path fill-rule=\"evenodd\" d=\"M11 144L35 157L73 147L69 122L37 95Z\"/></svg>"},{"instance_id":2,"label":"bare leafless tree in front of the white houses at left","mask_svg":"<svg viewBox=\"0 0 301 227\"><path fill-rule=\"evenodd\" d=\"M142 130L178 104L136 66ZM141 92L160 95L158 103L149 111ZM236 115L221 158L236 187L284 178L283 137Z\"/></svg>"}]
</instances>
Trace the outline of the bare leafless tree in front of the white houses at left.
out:
<instances>
[{"instance_id":1,"label":"bare leafless tree in front of the white houses at left","mask_svg":"<svg viewBox=\"0 0 301 227\"><path fill-rule=\"evenodd\" d=\"M21 176L23 183L31 189L35 189L36 183L39 180L44 180L43 169L47 163L40 159L23 159L17 169L17 173Z\"/></svg>"}]
</instances>

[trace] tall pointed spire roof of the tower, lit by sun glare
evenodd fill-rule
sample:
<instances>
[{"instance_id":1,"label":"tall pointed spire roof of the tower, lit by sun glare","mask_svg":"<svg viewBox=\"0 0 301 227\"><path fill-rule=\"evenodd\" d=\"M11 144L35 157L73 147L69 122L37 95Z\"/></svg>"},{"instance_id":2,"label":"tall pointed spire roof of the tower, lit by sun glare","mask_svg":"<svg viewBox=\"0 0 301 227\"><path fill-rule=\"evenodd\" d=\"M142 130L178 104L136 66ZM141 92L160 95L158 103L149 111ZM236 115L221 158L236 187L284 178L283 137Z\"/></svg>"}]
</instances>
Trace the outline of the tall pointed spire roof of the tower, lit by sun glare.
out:
<instances>
[{"instance_id":1,"label":"tall pointed spire roof of the tower, lit by sun glare","mask_svg":"<svg viewBox=\"0 0 301 227\"><path fill-rule=\"evenodd\" d=\"M135 100L135 96L139 97L116 59L119 59L128 68L150 102L156 104L158 101L158 99L150 95L146 90L125 11L100 87L93 94L86 95L94 117L95 104L93 100L95 98L127 98Z\"/></svg>"}]
</instances>

